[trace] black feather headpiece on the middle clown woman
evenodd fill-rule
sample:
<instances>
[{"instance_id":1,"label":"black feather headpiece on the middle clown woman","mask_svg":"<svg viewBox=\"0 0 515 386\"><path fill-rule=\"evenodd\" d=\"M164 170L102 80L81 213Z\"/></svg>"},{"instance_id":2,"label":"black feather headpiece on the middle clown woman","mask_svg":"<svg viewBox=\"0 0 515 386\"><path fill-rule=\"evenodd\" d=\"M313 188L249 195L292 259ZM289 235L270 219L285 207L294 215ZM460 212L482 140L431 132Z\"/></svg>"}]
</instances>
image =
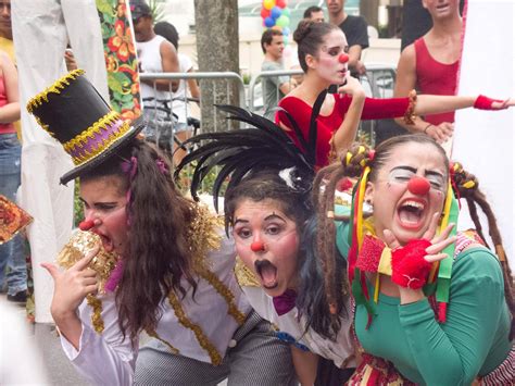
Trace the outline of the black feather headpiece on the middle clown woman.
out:
<instances>
[{"instance_id":1,"label":"black feather headpiece on the middle clown woman","mask_svg":"<svg viewBox=\"0 0 515 386\"><path fill-rule=\"evenodd\" d=\"M290 127L297 134L301 147L272 121L234 105L216 105L229 115L228 120L250 125L224 133L206 133L194 136L184 142L191 148L200 145L186 155L175 171L178 178L180 171L188 164L197 162L191 178L191 196L198 200L197 191L203 178L215 166L221 166L213 184L213 201L218 211L218 196L223 183L229 177L227 190L237 186L242 178L263 170L277 171L285 184L292 190L305 191L306 204L312 208L310 194L315 174L316 158L316 119L327 91L321 92L313 105L307 139L302 135L299 125L285 110ZM202 145L201 145L202 144Z\"/></svg>"}]
</instances>

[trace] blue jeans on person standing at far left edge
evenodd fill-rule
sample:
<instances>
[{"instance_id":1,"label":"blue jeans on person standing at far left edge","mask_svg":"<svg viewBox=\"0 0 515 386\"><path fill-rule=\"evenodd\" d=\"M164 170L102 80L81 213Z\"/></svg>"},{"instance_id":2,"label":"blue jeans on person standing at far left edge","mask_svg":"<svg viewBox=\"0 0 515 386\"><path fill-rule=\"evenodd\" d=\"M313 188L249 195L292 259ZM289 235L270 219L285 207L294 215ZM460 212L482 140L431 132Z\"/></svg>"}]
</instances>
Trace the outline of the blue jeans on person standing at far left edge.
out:
<instances>
[{"instance_id":1,"label":"blue jeans on person standing at far left edge","mask_svg":"<svg viewBox=\"0 0 515 386\"><path fill-rule=\"evenodd\" d=\"M0 134L0 195L15 200L21 184L22 146L16 134ZM9 266L8 294L16 295L27 289L27 264L22 236L0 245L0 286L4 285L5 266Z\"/></svg>"}]
</instances>

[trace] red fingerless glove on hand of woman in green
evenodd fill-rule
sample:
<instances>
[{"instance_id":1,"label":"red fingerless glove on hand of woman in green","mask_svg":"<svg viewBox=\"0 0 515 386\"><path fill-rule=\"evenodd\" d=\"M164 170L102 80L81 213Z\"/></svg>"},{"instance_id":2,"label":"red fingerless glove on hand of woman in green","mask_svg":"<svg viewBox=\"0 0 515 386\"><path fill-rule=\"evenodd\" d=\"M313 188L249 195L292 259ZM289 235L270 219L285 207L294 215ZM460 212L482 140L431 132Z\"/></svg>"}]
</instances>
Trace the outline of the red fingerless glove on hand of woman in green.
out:
<instances>
[{"instance_id":1,"label":"red fingerless glove on hand of woman in green","mask_svg":"<svg viewBox=\"0 0 515 386\"><path fill-rule=\"evenodd\" d=\"M431 242L426 239L411 240L404 247L391 252L391 281L401 287L422 288L431 270L431 263L424 257Z\"/></svg>"}]
</instances>

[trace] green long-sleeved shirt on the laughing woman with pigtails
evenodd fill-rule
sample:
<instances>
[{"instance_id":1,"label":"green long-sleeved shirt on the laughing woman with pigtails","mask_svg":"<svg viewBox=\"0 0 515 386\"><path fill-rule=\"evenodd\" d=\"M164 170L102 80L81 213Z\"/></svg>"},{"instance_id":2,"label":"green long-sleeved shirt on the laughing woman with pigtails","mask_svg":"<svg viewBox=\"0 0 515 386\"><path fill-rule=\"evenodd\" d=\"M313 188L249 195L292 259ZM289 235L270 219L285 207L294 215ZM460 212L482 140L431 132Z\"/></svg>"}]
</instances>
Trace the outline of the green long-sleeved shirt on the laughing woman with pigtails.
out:
<instances>
[{"instance_id":1,"label":"green long-sleeved shirt on the laughing woman with pigtails","mask_svg":"<svg viewBox=\"0 0 515 386\"><path fill-rule=\"evenodd\" d=\"M337 224L337 246L347 257L348 223ZM368 284L369 294L374 287ZM380 294L368 329L364 306L355 331L364 350L391 361L410 381L426 385L469 385L507 357L510 313L500 263L487 248L470 248L453 264L447 322L439 324L427 299L400 304Z\"/></svg>"}]
</instances>

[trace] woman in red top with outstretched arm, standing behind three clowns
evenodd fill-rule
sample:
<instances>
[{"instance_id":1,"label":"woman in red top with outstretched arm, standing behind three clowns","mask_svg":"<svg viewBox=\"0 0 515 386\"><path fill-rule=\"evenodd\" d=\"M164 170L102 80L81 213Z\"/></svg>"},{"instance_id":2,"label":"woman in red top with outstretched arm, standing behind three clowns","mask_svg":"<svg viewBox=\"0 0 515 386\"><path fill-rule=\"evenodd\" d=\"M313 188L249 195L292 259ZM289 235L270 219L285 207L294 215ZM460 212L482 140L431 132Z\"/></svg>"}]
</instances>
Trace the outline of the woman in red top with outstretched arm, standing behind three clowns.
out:
<instances>
[{"instance_id":1,"label":"woman in red top with outstretched arm, standing behind three clowns","mask_svg":"<svg viewBox=\"0 0 515 386\"><path fill-rule=\"evenodd\" d=\"M378 120L405 116L410 123L414 115L435 114L474 107L481 110L501 110L515 101L493 100L483 96L418 96L410 98L366 98L360 83L348 71L349 55L346 36L338 26L328 23L302 21L293 34L299 48L299 63L304 80L279 102L297 122L305 136L310 127L312 107L330 85L341 85L336 94L327 94L317 117L316 165L329 163L329 154L347 149L354 141L360 120ZM322 98L322 97L321 97ZM279 111L276 123L301 146L292 129L288 114Z\"/></svg>"}]
</instances>

